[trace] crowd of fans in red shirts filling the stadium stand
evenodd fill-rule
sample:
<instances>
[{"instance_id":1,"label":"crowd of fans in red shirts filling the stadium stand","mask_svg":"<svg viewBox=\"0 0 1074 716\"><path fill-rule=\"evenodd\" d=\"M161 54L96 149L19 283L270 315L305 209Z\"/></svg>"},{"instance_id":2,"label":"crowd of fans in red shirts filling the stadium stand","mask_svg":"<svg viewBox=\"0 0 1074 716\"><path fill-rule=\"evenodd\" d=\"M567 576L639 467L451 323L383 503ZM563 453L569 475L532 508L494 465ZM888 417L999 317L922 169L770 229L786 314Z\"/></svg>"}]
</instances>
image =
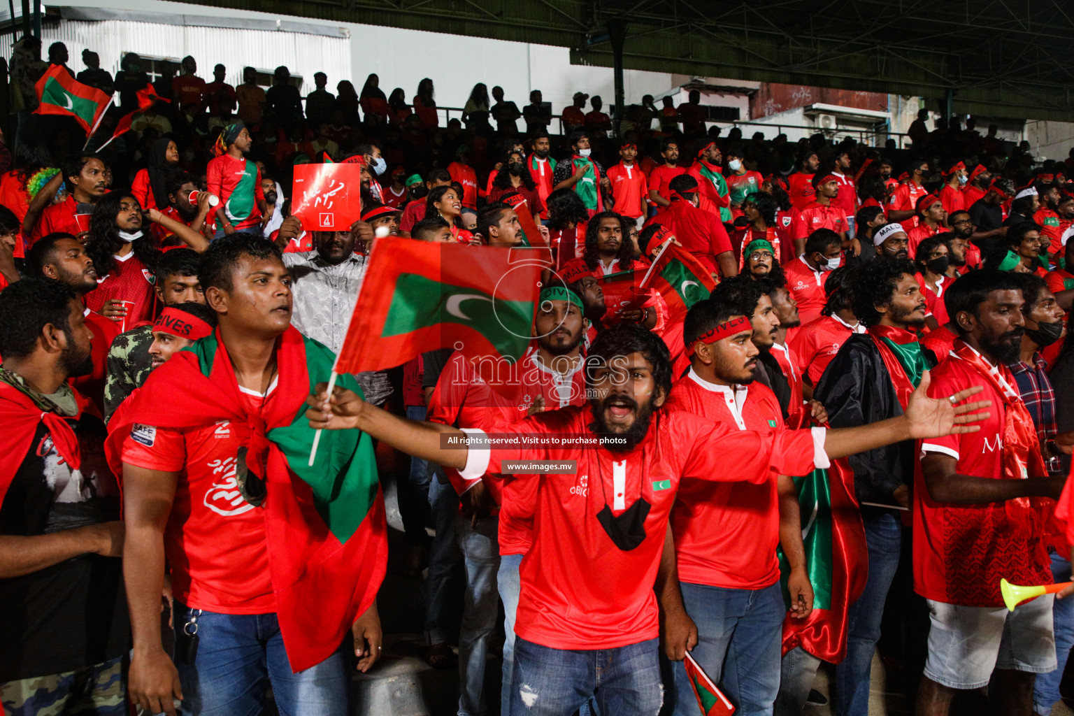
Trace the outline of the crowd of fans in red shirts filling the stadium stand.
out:
<instances>
[{"instance_id":1,"label":"crowd of fans in red shirts filling the stadium stand","mask_svg":"<svg viewBox=\"0 0 1074 716\"><path fill-rule=\"evenodd\" d=\"M354 602L343 632L319 622L329 607L296 616L270 552L314 513L297 488L303 509L278 507L305 461L291 421L326 377L306 372L310 346L340 350L384 236L478 261L547 243L564 283L541 293L536 369L510 396L431 346L310 398L309 425L361 428L347 469L369 467L376 503L368 438L410 455L393 568L424 582L424 658L458 670L461 716L495 708L497 634L502 714L695 714L688 651L750 716L798 716L838 661L834 713L865 716L885 630L918 714L989 684L1004 714L1059 700L1074 602L1007 613L999 582L1071 575L1055 500L1074 445L1074 150L1042 163L972 117L929 131L925 111L906 149L725 136L696 91L621 118L577 92L553 117L540 91L520 109L478 84L441 127L432 79L408 102L377 75L333 93L317 73L302 97L287 68L267 90L252 68L232 87L191 57L158 65L159 100L113 140L150 84L140 58L112 76L88 50L77 74L61 43L40 54L16 43L0 149L8 714L260 713L270 685L280 713L350 713L348 664L382 648L376 603ZM33 114L49 64L116 93L88 141ZM294 166L329 161L361 165L349 231L290 210ZM669 244L709 297L606 303L608 277ZM626 388L583 370L616 356ZM967 399L986 401L979 432L962 432ZM439 450L454 428L626 447L512 479L503 462L549 455ZM842 608L807 570L797 477L813 470L852 506L853 539L829 547L860 555ZM361 573L375 591L383 568ZM830 648L787 641L821 591ZM328 653L303 641L319 631Z\"/></svg>"}]
</instances>

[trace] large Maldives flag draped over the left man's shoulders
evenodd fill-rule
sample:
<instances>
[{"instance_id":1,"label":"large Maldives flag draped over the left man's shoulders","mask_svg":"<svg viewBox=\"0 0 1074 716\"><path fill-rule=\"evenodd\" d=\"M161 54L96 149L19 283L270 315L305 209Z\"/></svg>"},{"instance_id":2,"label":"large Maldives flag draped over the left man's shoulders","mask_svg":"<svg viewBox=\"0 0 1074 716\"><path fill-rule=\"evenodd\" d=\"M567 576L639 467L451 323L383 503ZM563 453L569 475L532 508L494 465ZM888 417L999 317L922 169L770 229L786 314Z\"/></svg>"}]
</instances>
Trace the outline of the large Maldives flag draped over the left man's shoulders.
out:
<instances>
[{"instance_id":1,"label":"large Maldives flag draped over the left man's shoulders","mask_svg":"<svg viewBox=\"0 0 1074 716\"><path fill-rule=\"evenodd\" d=\"M308 463L316 432L305 401L332 371L334 357L288 328L276 351L276 389L250 413L227 348L214 333L149 375L113 415L105 443L114 465L134 424L185 429L228 421L249 427L236 482L249 488L251 479L263 481L265 499L257 509L264 515L276 618L294 672L339 648L376 598L388 565L384 503L369 436L324 430L317 459ZM339 376L338 382L361 395L353 376Z\"/></svg>"}]
</instances>

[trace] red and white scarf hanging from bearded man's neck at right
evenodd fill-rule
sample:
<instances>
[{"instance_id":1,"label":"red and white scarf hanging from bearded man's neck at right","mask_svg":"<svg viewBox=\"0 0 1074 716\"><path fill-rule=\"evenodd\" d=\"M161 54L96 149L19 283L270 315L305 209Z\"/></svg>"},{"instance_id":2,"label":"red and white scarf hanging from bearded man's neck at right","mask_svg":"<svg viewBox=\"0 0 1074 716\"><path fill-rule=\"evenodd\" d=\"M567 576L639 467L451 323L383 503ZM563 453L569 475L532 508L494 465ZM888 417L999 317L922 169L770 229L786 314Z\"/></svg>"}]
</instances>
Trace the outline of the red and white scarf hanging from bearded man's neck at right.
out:
<instances>
[{"instance_id":1,"label":"red and white scarf hanging from bearded man's neck at right","mask_svg":"<svg viewBox=\"0 0 1074 716\"><path fill-rule=\"evenodd\" d=\"M991 385L1003 400L1003 452L1000 456L1002 479L1025 480L1047 476L1033 419L1006 366L993 366L961 339L955 341L948 357L952 356L972 365L981 374L981 379ZM1004 502L1007 520L1012 525L1020 524L1026 529L1040 531L1043 515L1037 509L1039 502L1039 499L1029 497L1007 500Z\"/></svg>"}]
</instances>

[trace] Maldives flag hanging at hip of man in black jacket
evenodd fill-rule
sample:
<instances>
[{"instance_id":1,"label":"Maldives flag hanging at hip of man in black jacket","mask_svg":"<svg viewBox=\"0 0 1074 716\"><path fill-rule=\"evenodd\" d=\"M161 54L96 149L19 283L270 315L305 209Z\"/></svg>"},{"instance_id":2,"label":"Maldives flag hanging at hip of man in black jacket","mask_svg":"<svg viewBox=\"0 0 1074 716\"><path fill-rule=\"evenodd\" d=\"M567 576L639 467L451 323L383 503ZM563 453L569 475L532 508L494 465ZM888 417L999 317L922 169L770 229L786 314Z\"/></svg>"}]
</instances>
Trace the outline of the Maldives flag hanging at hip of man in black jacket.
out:
<instances>
[{"instance_id":1,"label":"Maldives flag hanging at hip of man in black jacket","mask_svg":"<svg viewBox=\"0 0 1074 716\"><path fill-rule=\"evenodd\" d=\"M795 478L795 486L813 612L806 619L792 618L789 613L783 619L783 653L801 646L819 659L839 663L846 656L846 611L861 596L869 569L854 472L841 458L828 469ZM778 553L783 600L789 609L790 565L782 549Z\"/></svg>"}]
</instances>

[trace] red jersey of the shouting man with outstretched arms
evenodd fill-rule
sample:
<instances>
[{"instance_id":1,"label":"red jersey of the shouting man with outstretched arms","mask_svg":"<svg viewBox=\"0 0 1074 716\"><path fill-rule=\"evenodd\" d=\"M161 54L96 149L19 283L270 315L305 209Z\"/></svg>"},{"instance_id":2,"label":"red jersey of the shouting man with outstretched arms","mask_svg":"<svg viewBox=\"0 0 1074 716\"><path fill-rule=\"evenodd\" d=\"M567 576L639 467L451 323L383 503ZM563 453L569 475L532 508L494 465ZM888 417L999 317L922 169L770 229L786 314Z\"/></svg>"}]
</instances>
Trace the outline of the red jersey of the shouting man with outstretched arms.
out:
<instances>
[{"instance_id":1,"label":"red jersey of the shouting man with outstretched arms","mask_svg":"<svg viewBox=\"0 0 1074 716\"><path fill-rule=\"evenodd\" d=\"M681 479L767 481L769 469L802 474L828 464L823 432L761 435L659 410L639 444L612 452L578 444L595 439L589 429L592 422L592 410L584 406L537 413L497 428L518 436L519 443L470 448L463 471L498 474L505 461L577 461L575 474L532 478L539 481L533 546L522 558L514 632L551 648L615 648L656 638L653 585ZM522 442L550 434L576 442ZM739 469L726 469L728 453L741 456ZM650 505L644 539L630 551L620 550L596 514L607 505L620 515L639 498Z\"/></svg>"}]
</instances>

